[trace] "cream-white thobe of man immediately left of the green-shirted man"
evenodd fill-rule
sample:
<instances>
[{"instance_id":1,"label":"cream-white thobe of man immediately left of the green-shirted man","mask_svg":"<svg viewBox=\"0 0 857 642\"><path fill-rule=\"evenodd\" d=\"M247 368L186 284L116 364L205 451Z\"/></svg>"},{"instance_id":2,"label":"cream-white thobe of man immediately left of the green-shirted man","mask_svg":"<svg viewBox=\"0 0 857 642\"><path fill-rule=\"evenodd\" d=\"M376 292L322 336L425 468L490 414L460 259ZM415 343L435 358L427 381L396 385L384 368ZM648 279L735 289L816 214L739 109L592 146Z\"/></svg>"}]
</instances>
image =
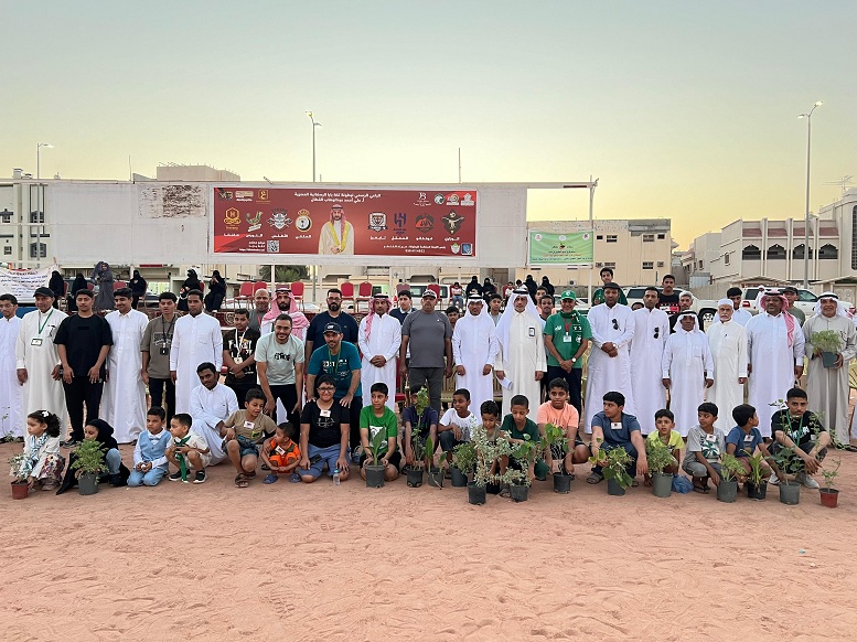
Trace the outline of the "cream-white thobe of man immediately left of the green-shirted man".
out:
<instances>
[{"instance_id":1,"label":"cream-white thobe of man immediately left of the green-shirted man","mask_svg":"<svg viewBox=\"0 0 857 642\"><path fill-rule=\"evenodd\" d=\"M527 417L535 421L542 399L542 384L536 381L536 372L547 370L542 319L526 311L513 311L508 345L500 341L497 344L500 350L494 360L494 370L502 370L512 382L511 387L503 386L503 408L508 410L512 397L524 395L529 402Z\"/></svg>"}]
</instances>

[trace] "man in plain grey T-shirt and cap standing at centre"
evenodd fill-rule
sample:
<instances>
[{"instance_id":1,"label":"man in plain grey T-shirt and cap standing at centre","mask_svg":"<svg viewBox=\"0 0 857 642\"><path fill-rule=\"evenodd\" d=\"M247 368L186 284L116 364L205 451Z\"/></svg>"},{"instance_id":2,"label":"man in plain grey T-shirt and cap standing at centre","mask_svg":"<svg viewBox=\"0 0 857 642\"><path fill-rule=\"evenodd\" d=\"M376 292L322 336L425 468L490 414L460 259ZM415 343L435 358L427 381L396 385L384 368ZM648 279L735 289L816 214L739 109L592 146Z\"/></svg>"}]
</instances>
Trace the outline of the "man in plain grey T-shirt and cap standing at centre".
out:
<instances>
[{"instance_id":1,"label":"man in plain grey T-shirt and cap standing at centre","mask_svg":"<svg viewBox=\"0 0 857 642\"><path fill-rule=\"evenodd\" d=\"M399 372L403 375L407 373L411 387L427 385L431 407L440 413L443 377L452 376L452 325L446 314L435 311L437 302L437 295L427 289L422 292L422 309L405 318ZM410 361L406 363L408 346Z\"/></svg>"}]
</instances>

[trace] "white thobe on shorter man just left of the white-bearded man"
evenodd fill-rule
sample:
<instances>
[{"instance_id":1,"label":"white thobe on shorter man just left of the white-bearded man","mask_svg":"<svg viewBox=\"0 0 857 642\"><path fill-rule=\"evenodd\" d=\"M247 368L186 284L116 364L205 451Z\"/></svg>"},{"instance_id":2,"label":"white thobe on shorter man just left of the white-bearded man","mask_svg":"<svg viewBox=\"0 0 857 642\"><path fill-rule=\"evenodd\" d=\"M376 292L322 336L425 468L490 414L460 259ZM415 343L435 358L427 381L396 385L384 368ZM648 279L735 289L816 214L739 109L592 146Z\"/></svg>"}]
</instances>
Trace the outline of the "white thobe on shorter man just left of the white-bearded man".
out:
<instances>
[{"instance_id":1,"label":"white thobe on shorter man just left of the white-bearded man","mask_svg":"<svg viewBox=\"0 0 857 642\"><path fill-rule=\"evenodd\" d=\"M661 375L669 378L669 409L682 437L699 421L697 408L705 400L705 379L714 377L708 338L699 330L687 332L676 323L661 361ZM729 410L731 413L731 409Z\"/></svg>"}]
</instances>

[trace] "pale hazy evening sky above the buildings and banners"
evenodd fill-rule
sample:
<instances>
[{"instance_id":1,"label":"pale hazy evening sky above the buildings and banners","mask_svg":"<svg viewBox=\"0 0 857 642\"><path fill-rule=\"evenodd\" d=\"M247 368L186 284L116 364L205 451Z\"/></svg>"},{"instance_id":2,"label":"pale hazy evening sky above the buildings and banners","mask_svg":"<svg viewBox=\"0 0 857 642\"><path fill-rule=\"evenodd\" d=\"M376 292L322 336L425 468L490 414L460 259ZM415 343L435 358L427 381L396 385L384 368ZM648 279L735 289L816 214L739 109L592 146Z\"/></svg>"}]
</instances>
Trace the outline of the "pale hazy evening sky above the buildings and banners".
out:
<instances>
[{"instance_id":1,"label":"pale hazy evening sky above the buildings and banners","mask_svg":"<svg viewBox=\"0 0 857 642\"><path fill-rule=\"evenodd\" d=\"M599 179L599 218L803 217L857 174L851 0L7 3L0 175ZM585 218L531 192L531 220Z\"/></svg>"}]
</instances>

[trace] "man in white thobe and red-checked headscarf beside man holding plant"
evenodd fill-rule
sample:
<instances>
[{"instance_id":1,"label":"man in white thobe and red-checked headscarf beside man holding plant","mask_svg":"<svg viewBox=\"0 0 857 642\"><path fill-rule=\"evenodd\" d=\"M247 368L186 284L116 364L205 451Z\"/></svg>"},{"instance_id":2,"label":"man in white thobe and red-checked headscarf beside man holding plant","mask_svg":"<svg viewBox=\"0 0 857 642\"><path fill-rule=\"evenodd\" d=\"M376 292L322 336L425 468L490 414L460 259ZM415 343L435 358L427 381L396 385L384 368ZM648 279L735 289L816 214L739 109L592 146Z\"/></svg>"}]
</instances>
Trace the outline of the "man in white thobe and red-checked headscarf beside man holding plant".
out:
<instances>
[{"instance_id":1,"label":"man in white thobe and red-checked headscarf beside man holding plant","mask_svg":"<svg viewBox=\"0 0 857 642\"><path fill-rule=\"evenodd\" d=\"M756 407L762 437L771 437L771 417L779 409L771 404L785 399L803 374L803 332L800 322L784 311L788 304L780 290L768 290L759 299L760 312L744 327L748 400Z\"/></svg>"}]
</instances>

